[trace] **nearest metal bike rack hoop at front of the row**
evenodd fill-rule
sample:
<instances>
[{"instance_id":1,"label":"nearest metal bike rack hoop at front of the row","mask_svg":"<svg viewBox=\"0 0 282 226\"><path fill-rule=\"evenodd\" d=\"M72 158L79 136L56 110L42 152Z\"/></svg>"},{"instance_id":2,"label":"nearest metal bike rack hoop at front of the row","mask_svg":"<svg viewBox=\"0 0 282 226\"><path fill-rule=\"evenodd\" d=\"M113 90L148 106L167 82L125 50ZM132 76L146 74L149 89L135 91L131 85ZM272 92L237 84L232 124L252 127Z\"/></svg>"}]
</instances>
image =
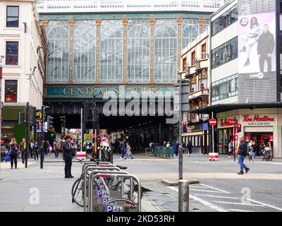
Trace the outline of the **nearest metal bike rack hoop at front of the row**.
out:
<instances>
[{"instance_id":1,"label":"nearest metal bike rack hoop at front of the row","mask_svg":"<svg viewBox=\"0 0 282 226\"><path fill-rule=\"evenodd\" d=\"M114 174L117 177L121 177L122 179L130 179L131 193L133 191L133 180L135 180L137 182L137 184L138 184L138 193L137 193L138 194L138 206L137 206L138 209L137 210L138 210L138 212L141 212L141 184L140 184L139 179L137 177L135 177L134 175L131 175L131 174L121 174L121 173L118 173L118 172L116 172L116 173L114 173L114 172L106 173L106 175L108 175L108 176L110 176L111 174ZM97 174L94 174L94 176L90 179L90 183L91 183L90 184L90 198L89 198L90 201L88 201L88 203L90 203L89 204L90 208L88 208L88 209L90 209L90 211L92 210L92 184L93 184L93 181L97 177L104 177L104 176L105 176L104 172L99 172ZM123 182L123 180L122 180L122 182ZM121 187L123 187L123 186L121 186ZM130 198L132 199L131 193L130 193ZM122 191L121 194L123 194L123 191ZM113 201L113 200L111 200L111 201ZM108 201L107 203L109 203L111 201ZM132 201L132 200L130 200L130 201ZM106 203L106 206L107 206L107 203Z\"/></svg>"}]
</instances>

